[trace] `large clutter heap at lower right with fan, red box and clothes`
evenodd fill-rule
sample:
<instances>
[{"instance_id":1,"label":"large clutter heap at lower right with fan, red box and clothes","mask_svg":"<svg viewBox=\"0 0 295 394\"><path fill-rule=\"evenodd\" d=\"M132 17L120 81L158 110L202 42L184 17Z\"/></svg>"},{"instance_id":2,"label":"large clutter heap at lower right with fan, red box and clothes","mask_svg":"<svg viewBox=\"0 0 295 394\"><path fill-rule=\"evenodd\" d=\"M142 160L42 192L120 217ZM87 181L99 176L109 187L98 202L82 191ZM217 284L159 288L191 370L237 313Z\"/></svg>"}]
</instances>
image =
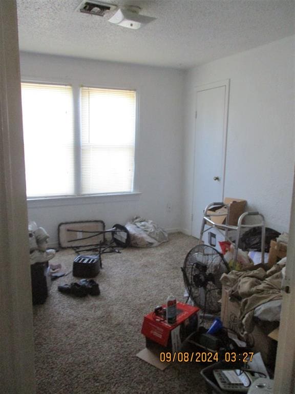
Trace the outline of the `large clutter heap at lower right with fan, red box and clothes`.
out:
<instances>
[{"instance_id":1,"label":"large clutter heap at lower right with fan, red box and clothes","mask_svg":"<svg viewBox=\"0 0 295 394\"><path fill-rule=\"evenodd\" d=\"M251 228L241 241L220 241L219 250L200 242L187 253L182 273L187 302L200 308L198 324L192 327L188 319L194 310L187 312L184 324L186 306L179 302L174 324L162 313L166 305L156 307L144 317L146 348L139 358L161 370L174 361L211 363L201 375L214 392L250 392L258 379L271 390L286 258L278 261L276 253L264 264L263 254L267 260L273 243L277 250L284 244L286 251L288 237L270 228ZM209 319L214 322L208 328Z\"/></svg>"}]
</instances>

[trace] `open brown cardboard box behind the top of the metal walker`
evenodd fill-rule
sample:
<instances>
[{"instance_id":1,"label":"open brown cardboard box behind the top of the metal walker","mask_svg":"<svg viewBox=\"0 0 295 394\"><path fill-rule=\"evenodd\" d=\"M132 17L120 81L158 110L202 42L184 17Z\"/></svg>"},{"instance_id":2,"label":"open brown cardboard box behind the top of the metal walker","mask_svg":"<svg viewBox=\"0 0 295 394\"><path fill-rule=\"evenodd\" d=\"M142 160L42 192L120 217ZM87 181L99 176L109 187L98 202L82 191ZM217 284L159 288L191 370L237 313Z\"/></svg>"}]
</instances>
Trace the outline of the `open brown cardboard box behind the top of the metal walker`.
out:
<instances>
[{"instance_id":1,"label":"open brown cardboard box behind the top of the metal walker","mask_svg":"<svg viewBox=\"0 0 295 394\"><path fill-rule=\"evenodd\" d=\"M239 220L241 214L245 212L246 203L247 203L246 200L233 199L233 198L229 198L229 197L226 197L224 199L224 204L229 205L229 208L228 208L229 214L228 214L228 223L227 223L228 225L237 226L238 220ZM215 224L225 224L226 215L227 215L227 208L226 207L217 208L214 210L208 210L207 213L210 215L210 219ZM218 216L214 216L216 214L218 214Z\"/></svg>"}]
</instances>

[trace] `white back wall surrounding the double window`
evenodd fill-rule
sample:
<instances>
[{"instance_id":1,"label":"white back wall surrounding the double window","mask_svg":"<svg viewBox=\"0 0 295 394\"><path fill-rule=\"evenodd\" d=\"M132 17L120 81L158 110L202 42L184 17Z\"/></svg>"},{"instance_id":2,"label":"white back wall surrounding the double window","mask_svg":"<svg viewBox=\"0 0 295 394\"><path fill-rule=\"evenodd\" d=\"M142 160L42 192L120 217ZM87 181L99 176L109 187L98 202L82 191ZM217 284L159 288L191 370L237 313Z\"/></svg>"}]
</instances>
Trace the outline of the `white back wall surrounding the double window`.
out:
<instances>
[{"instance_id":1,"label":"white back wall surrounding the double window","mask_svg":"<svg viewBox=\"0 0 295 394\"><path fill-rule=\"evenodd\" d=\"M178 229L184 72L32 53L21 53L20 65L23 80L136 89L139 97L136 188L141 194L29 202L29 219L46 228L51 244L57 241L58 224L66 221L100 219L109 227L139 214Z\"/></svg>"}]
</instances>

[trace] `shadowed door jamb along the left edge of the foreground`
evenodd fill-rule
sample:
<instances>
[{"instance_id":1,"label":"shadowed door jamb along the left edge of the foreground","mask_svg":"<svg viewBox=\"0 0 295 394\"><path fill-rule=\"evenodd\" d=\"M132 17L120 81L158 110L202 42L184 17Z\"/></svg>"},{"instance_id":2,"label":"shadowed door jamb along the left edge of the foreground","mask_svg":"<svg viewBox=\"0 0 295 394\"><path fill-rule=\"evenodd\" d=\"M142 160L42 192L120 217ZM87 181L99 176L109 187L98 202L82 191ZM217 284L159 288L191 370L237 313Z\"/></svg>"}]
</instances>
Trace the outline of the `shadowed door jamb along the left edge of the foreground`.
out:
<instances>
[{"instance_id":1,"label":"shadowed door jamb along the left edge of the foreground","mask_svg":"<svg viewBox=\"0 0 295 394\"><path fill-rule=\"evenodd\" d=\"M34 338L16 0L0 0L0 387L34 394Z\"/></svg>"}]
</instances>

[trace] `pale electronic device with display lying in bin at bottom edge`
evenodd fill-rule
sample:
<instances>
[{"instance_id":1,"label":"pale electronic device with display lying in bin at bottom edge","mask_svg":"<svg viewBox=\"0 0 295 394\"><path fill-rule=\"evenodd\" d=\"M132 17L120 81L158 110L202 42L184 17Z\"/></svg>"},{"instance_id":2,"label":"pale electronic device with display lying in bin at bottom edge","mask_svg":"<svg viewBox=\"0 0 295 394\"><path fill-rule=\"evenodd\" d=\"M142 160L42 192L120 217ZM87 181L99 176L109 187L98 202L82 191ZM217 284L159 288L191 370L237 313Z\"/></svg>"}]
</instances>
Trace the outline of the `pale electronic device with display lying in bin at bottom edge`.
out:
<instances>
[{"instance_id":1,"label":"pale electronic device with display lying in bin at bottom edge","mask_svg":"<svg viewBox=\"0 0 295 394\"><path fill-rule=\"evenodd\" d=\"M213 373L222 390L236 392L248 392L252 383L263 375L240 369L215 369Z\"/></svg>"}]
</instances>

